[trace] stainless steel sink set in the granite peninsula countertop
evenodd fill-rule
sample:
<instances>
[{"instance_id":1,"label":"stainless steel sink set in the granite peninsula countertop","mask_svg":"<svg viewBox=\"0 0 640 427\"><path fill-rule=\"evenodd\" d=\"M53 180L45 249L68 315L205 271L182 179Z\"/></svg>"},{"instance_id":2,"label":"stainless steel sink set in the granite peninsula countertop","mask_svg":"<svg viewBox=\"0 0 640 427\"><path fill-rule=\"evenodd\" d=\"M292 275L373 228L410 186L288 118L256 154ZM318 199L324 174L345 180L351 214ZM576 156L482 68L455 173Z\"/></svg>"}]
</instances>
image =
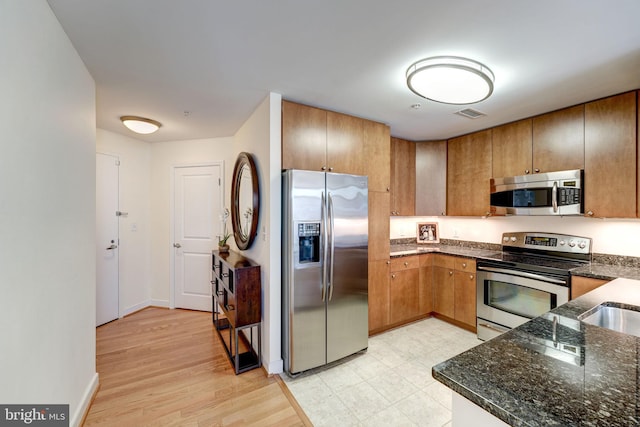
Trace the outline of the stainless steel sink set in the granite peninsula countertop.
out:
<instances>
[{"instance_id":1,"label":"stainless steel sink set in the granite peninsula countertop","mask_svg":"<svg viewBox=\"0 0 640 427\"><path fill-rule=\"evenodd\" d=\"M640 337L640 307L618 302L604 302L578 316L590 325Z\"/></svg>"}]
</instances>

